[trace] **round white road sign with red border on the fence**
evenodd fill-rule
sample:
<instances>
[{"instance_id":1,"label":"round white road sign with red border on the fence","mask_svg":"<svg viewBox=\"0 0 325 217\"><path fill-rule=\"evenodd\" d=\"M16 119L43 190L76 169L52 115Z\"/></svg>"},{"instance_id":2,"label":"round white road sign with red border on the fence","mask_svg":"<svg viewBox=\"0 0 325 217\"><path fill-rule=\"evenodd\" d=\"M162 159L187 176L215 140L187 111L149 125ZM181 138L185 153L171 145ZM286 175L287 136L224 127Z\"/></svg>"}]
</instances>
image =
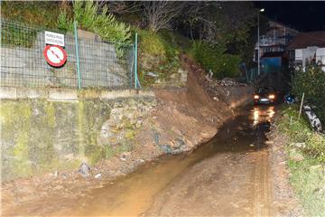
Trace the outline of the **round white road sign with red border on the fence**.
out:
<instances>
[{"instance_id":1,"label":"round white road sign with red border on the fence","mask_svg":"<svg viewBox=\"0 0 325 217\"><path fill-rule=\"evenodd\" d=\"M54 67L60 67L67 61L67 52L59 45L47 45L43 54L45 60Z\"/></svg>"}]
</instances>

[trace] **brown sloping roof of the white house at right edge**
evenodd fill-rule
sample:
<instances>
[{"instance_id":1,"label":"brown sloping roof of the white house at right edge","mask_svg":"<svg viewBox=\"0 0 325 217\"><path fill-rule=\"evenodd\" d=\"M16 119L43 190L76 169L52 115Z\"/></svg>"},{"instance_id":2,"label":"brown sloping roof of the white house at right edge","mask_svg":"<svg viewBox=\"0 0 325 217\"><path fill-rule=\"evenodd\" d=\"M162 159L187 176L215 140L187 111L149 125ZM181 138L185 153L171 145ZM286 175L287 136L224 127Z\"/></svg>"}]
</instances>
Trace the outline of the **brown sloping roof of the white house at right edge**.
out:
<instances>
[{"instance_id":1,"label":"brown sloping roof of the white house at right edge","mask_svg":"<svg viewBox=\"0 0 325 217\"><path fill-rule=\"evenodd\" d=\"M325 31L299 33L289 44L288 49L301 49L311 46L325 47Z\"/></svg>"}]
</instances>

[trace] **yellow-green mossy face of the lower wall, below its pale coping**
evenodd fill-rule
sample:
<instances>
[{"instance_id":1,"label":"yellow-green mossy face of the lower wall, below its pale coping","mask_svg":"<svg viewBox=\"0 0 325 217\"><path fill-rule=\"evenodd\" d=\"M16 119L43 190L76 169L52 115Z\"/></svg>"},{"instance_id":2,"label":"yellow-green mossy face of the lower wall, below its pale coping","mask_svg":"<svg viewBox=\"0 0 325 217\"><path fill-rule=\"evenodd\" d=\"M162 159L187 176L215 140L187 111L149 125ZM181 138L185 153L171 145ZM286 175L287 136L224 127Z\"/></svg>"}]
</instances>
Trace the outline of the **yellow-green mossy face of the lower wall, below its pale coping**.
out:
<instances>
[{"instance_id":1,"label":"yellow-green mossy face of the lower wall, below its pale coping","mask_svg":"<svg viewBox=\"0 0 325 217\"><path fill-rule=\"evenodd\" d=\"M129 114L130 108L137 103L143 107L145 100L2 100L3 180L77 169L82 161L95 165L103 158L132 150L136 121L133 124L129 119L122 121L127 124L117 130L123 130L125 138L114 145L108 139L99 143L98 137L116 105L126 108L124 110Z\"/></svg>"}]
</instances>

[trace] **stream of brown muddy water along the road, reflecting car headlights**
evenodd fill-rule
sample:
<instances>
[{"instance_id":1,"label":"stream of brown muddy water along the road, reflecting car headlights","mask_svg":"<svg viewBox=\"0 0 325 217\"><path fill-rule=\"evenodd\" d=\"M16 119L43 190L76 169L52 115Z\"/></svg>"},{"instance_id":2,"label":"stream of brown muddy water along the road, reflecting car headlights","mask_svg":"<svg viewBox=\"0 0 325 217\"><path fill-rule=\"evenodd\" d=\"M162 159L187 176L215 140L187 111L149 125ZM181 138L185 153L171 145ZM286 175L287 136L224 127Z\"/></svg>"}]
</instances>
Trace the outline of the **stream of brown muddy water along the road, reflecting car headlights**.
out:
<instances>
[{"instance_id":1,"label":"stream of brown muddy water along the road, reflecting car headlights","mask_svg":"<svg viewBox=\"0 0 325 217\"><path fill-rule=\"evenodd\" d=\"M54 214L144 215L152 206L155 196L193 165L221 153L255 152L265 147L265 132L269 130L274 111L273 106L243 109L237 118L221 127L214 138L192 153L166 156L143 165L133 174L86 193L72 206L73 210Z\"/></svg>"}]
</instances>

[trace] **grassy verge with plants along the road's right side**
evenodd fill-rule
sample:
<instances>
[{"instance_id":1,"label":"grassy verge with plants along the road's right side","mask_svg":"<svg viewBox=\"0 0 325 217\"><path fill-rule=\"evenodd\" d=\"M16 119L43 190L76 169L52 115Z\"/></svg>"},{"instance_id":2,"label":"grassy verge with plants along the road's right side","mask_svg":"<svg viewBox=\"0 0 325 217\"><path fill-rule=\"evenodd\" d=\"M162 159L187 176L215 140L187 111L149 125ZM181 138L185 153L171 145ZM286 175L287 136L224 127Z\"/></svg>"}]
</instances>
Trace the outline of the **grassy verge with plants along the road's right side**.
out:
<instances>
[{"instance_id":1,"label":"grassy verge with plants along the road's right side","mask_svg":"<svg viewBox=\"0 0 325 217\"><path fill-rule=\"evenodd\" d=\"M325 137L311 131L303 118L298 120L297 109L284 109L279 122L279 132L290 138L286 147L290 156L290 182L302 200L307 216L322 216L325 213ZM294 160L292 153L303 157Z\"/></svg>"}]
</instances>

